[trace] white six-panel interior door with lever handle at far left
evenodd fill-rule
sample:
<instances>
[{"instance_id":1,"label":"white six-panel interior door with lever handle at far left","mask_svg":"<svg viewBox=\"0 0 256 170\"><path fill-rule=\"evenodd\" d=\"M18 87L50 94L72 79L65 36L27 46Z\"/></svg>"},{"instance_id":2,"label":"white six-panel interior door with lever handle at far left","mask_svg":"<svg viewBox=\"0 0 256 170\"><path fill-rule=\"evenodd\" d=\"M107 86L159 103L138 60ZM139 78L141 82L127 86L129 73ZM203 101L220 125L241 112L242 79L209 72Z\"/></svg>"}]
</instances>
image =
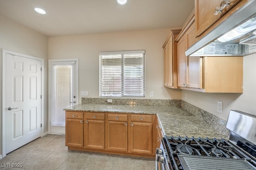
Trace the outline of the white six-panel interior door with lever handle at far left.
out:
<instances>
[{"instance_id":1,"label":"white six-panel interior door with lever handle at far left","mask_svg":"<svg viewBox=\"0 0 256 170\"><path fill-rule=\"evenodd\" d=\"M41 136L42 61L6 53L6 154Z\"/></svg>"}]
</instances>

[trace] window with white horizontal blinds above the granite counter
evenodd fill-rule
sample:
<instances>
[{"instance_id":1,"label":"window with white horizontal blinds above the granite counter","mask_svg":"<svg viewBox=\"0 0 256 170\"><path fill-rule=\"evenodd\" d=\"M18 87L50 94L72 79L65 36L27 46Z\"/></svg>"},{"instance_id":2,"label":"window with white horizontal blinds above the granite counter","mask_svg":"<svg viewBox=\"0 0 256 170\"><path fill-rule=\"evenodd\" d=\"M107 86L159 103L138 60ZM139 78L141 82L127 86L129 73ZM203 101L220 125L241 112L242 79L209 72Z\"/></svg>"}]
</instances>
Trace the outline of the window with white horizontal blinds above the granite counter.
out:
<instances>
[{"instance_id":1,"label":"window with white horizontal blinds above the granite counter","mask_svg":"<svg viewBox=\"0 0 256 170\"><path fill-rule=\"evenodd\" d=\"M100 52L100 97L145 97L145 51Z\"/></svg>"}]
</instances>

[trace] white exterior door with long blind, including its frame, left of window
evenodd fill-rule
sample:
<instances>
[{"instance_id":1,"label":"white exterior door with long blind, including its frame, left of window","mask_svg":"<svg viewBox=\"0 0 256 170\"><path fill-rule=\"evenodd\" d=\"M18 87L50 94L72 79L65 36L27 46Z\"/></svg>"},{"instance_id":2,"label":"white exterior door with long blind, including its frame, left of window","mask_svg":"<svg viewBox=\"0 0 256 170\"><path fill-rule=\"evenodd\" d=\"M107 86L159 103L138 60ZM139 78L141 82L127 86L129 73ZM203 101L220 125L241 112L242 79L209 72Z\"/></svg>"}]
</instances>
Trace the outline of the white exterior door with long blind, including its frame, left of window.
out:
<instances>
[{"instance_id":1,"label":"white exterior door with long blind, including its frame, left of window","mask_svg":"<svg viewBox=\"0 0 256 170\"><path fill-rule=\"evenodd\" d=\"M65 111L78 104L78 61L49 61L50 133L65 133Z\"/></svg>"}]
</instances>

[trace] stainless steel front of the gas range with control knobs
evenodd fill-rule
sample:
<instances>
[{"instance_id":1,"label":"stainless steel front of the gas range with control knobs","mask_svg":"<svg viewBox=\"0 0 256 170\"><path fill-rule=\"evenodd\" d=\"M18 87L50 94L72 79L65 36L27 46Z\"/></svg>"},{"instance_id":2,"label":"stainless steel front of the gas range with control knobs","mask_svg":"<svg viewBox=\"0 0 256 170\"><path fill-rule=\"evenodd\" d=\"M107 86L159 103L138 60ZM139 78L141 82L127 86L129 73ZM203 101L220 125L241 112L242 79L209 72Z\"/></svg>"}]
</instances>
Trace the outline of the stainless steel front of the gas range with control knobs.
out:
<instances>
[{"instance_id":1,"label":"stainless steel front of the gas range with control knobs","mask_svg":"<svg viewBox=\"0 0 256 170\"><path fill-rule=\"evenodd\" d=\"M161 140L160 148L156 148L156 170L171 170L170 161L164 144L164 138Z\"/></svg>"}]
</instances>

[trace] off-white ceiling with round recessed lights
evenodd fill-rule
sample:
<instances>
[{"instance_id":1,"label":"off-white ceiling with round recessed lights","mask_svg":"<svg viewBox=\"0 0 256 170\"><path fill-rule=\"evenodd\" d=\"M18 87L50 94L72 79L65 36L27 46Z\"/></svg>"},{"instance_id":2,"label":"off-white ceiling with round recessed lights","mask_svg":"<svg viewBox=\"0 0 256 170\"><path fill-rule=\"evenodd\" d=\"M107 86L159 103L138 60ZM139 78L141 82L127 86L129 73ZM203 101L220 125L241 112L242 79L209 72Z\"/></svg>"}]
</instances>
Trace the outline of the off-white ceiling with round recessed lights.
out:
<instances>
[{"instance_id":1,"label":"off-white ceiling with round recessed lights","mask_svg":"<svg viewBox=\"0 0 256 170\"><path fill-rule=\"evenodd\" d=\"M193 9L194 0L0 0L0 15L48 37L180 28Z\"/></svg>"}]
</instances>

